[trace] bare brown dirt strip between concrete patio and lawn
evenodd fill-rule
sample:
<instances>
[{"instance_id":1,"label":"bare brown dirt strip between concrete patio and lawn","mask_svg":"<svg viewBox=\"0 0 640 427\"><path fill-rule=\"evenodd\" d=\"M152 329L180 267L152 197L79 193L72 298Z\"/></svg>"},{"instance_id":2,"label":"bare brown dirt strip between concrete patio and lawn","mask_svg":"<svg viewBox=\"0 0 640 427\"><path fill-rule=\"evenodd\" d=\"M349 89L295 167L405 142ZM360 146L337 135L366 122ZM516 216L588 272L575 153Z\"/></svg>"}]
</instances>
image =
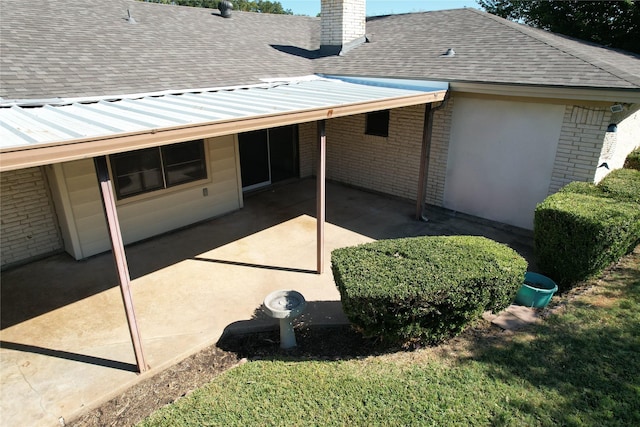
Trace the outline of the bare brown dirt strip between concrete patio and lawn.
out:
<instances>
[{"instance_id":1,"label":"bare brown dirt strip between concrete patio and lawn","mask_svg":"<svg viewBox=\"0 0 640 427\"><path fill-rule=\"evenodd\" d=\"M183 360L165 371L128 389L120 396L80 418L67 422L69 426L102 427L132 426L161 407L175 402L213 380L217 375L242 364L246 360L297 359L297 360L349 360L386 355L398 358L415 355L418 359L448 355L468 355L478 340L490 337L507 337L501 329L489 322L480 322L462 335L437 347L424 347L403 351L389 348L380 342L367 339L348 325L332 327L302 327L296 330L297 347L280 349L279 331L230 335L217 345ZM419 355L418 353L423 353Z\"/></svg>"}]
</instances>

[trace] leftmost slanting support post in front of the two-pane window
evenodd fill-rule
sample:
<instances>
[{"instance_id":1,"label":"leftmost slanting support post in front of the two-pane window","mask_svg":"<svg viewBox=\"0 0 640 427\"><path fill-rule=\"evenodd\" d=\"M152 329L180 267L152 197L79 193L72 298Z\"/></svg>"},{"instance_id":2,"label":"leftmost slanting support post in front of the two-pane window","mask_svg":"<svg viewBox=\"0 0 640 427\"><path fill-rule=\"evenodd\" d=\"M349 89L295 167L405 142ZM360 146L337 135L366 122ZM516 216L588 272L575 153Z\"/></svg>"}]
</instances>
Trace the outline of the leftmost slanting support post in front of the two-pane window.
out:
<instances>
[{"instance_id":1,"label":"leftmost slanting support post in front of the two-pane window","mask_svg":"<svg viewBox=\"0 0 640 427\"><path fill-rule=\"evenodd\" d=\"M136 355L136 363L140 373L145 372L148 367L144 360L142 351L142 339L138 330L136 314L133 308L133 299L131 297L131 278L129 277L129 267L127 265L127 256L124 252L124 243L122 241L122 232L120 231L120 223L118 221L118 212L116 211L116 202L109 178L109 170L107 169L107 159L105 156L95 157L94 164L98 181L100 183L100 193L102 194L102 206L105 216L107 217L107 226L109 229L109 238L111 240L111 248L113 249L113 258L118 271L118 280L120 282L120 292L124 303L124 310L129 324L129 333L131 342L133 343L133 351Z\"/></svg>"}]
</instances>

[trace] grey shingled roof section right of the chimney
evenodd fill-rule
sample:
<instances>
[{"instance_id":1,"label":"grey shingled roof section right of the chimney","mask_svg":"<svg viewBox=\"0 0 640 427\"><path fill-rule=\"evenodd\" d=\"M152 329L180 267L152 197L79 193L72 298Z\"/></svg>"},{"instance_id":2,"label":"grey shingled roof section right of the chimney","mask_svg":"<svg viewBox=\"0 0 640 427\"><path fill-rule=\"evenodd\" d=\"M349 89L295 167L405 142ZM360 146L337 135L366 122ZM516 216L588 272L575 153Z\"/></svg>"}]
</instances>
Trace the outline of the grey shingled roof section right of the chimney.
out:
<instances>
[{"instance_id":1,"label":"grey shingled roof section right of the chimney","mask_svg":"<svg viewBox=\"0 0 640 427\"><path fill-rule=\"evenodd\" d=\"M516 24L476 9L367 21L367 43L316 70L449 82L640 89L640 56ZM453 49L455 56L443 54Z\"/></svg>"}]
</instances>

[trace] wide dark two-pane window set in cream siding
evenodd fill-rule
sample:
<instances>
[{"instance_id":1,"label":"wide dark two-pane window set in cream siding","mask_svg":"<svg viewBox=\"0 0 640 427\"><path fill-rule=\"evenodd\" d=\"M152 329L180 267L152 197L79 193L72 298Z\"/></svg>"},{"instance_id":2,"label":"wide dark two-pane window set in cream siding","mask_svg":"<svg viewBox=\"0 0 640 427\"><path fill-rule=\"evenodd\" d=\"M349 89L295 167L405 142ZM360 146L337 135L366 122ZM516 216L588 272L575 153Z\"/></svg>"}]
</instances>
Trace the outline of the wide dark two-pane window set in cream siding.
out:
<instances>
[{"instance_id":1,"label":"wide dark two-pane window set in cream siding","mask_svg":"<svg viewBox=\"0 0 640 427\"><path fill-rule=\"evenodd\" d=\"M204 141L109 156L119 199L207 178Z\"/></svg>"}]
</instances>

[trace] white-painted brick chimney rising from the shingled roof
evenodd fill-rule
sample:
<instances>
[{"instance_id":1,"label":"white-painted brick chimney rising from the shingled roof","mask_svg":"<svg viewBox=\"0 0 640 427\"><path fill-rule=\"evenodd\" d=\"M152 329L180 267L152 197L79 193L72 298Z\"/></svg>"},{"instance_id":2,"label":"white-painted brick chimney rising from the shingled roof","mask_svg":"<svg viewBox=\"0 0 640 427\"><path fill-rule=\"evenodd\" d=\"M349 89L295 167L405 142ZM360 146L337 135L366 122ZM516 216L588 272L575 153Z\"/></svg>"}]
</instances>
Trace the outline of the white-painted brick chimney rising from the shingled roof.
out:
<instances>
[{"instance_id":1,"label":"white-painted brick chimney rising from the shingled roof","mask_svg":"<svg viewBox=\"0 0 640 427\"><path fill-rule=\"evenodd\" d=\"M321 51L342 55L366 41L366 3L366 0L321 0Z\"/></svg>"}]
</instances>

